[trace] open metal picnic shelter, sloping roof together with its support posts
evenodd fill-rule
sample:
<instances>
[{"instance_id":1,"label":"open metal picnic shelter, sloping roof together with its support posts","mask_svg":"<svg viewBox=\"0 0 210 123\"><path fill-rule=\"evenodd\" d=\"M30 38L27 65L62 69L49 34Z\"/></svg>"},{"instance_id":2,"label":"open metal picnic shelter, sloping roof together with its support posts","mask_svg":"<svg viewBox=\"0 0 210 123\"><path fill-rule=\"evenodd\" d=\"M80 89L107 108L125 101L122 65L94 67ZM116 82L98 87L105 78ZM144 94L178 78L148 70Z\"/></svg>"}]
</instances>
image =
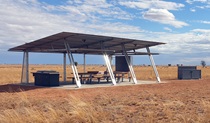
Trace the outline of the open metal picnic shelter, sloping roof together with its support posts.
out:
<instances>
[{"instance_id":1,"label":"open metal picnic shelter, sloping roof together with its support posts","mask_svg":"<svg viewBox=\"0 0 210 123\"><path fill-rule=\"evenodd\" d=\"M69 58L70 65L76 80L77 87L81 86L77 68L74 64L73 54L84 54L84 64L86 54L103 55L105 63L113 85L116 85L116 80L110 63L110 56L124 55L128 63L130 74L134 83L137 83L136 76L132 65L128 59L128 55L149 55L153 66L157 82L160 82L160 77L155 66L149 47L165 44L162 42L144 41L136 39L118 38L110 36L61 32L36 41L25 43L23 45L9 49L9 51L24 52L22 65L22 83L29 82L29 52L40 53L62 53L63 54L63 70L64 80L66 81L66 54ZM136 50L146 48L147 52L138 52ZM85 69L85 68L84 68Z\"/></svg>"}]
</instances>

